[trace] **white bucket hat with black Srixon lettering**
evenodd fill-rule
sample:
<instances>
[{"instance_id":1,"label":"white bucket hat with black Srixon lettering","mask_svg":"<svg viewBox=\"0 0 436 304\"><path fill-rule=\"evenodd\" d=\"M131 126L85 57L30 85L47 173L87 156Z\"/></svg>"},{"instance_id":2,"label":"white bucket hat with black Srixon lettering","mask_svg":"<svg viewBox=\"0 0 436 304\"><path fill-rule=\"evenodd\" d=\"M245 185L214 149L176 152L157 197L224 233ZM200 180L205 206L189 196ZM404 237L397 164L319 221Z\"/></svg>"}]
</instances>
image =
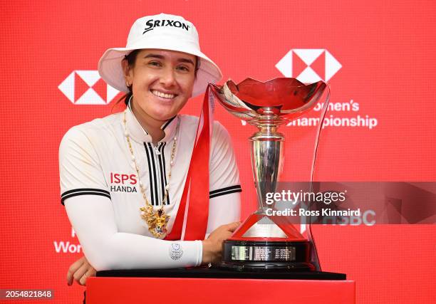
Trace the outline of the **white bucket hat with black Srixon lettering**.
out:
<instances>
[{"instance_id":1,"label":"white bucket hat with black Srixon lettering","mask_svg":"<svg viewBox=\"0 0 436 304\"><path fill-rule=\"evenodd\" d=\"M120 91L128 92L121 61L133 50L157 48L180 51L197 56L200 60L192 97L204 92L208 83L222 78L221 70L200 51L198 33L194 24L181 16L159 14L137 19L130 28L125 48L109 48L98 62L98 73L106 83Z\"/></svg>"}]
</instances>

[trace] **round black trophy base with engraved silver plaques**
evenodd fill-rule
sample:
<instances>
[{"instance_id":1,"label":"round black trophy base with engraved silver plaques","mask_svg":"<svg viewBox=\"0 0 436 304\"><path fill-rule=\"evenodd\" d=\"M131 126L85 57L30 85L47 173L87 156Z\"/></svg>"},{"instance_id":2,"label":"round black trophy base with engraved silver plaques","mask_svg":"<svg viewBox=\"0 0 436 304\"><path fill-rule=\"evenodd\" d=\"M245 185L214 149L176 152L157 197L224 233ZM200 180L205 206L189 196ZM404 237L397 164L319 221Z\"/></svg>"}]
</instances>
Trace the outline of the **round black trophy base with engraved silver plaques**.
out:
<instances>
[{"instance_id":1,"label":"round black trophy base with engraved silver plaques","mask_svg":"<svg viewBox=\"0 0 436 304\"><path fill-rule=\"evenodd\" d=\"M227 239L220 268L233 271L314 271L308 241Z\"/></svg>"}]
</instances>

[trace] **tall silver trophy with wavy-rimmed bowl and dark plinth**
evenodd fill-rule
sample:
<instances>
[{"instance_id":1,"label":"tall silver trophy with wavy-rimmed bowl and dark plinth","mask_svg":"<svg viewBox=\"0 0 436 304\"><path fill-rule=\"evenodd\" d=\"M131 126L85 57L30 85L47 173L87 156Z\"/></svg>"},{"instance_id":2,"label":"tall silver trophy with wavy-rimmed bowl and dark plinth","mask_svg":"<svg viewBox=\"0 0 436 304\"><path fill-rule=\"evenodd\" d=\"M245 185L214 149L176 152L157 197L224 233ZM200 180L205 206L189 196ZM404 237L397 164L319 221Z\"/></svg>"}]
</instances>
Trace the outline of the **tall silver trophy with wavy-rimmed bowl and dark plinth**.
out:
<instances>
[{"instance_id":1,"label":"tall silver trophy with wavy-rimmed bowl and dark plinth","mask_svg":"<svg viewBox=\"0 0 436 304\"><path fill-rule=\"evenodd\" d=\"M271 216L266 193L276 192L284 165L284 135L280 125L311 110L326 89L319 81L304 85L294 78L275 78L266 83L247 78L236 85L232 80L212 85L224 108L258 128L249 140L251 166L258 196L258 209L231 238L223 243L223 268L238 271L314 271L318 258L311 241L286 216Z\"/></svg>"}]
</instances>

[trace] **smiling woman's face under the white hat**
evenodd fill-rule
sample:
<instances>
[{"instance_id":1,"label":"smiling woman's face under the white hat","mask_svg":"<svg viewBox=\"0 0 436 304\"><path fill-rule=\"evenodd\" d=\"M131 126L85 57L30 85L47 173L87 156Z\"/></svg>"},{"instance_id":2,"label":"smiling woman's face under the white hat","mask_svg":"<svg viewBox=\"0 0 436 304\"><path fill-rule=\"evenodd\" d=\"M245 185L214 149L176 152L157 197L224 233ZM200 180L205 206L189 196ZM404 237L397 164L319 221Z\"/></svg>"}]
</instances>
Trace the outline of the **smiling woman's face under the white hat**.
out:
<instances>
[{"instance_id":1,"label":"smiling woman's face under the white hat","mask_svg":"<svg viewBox=\"0 0 436 304\"><path fill-rule=\"evenodd\" d=\"M149 125L162 125L177 115L192 95L197 58L187 53L145 49L135 65L125 61L127 83L132 85L133 108Z\"/></svg>"}]
</instances>

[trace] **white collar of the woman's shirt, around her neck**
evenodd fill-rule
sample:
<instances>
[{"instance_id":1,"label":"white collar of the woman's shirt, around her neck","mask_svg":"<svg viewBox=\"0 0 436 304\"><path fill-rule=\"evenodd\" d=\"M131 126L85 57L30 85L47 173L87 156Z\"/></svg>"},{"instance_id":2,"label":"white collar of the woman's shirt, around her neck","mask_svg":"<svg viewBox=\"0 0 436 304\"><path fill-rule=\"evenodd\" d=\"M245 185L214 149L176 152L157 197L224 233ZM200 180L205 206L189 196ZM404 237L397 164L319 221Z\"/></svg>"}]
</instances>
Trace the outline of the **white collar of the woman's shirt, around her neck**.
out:
<instances>
[{"instance_id":1,"label":"white collar of the woman's shirt, around her neck","mask_svg":"<svg viewBox=\"0 0 436 304\"><path fill-rule=\"evenodd\" d=\"M133 114L132 108L130 107L131 99L128 103L128 108L126 109L125 114L125 124L130 135L130 138L135 140L135 142L152 142L152 137L148 134L147 130L145 130L140 122ZM180 118L176 115L175 117L167 120L160 128L165 132L165 137L160 140L160 142L169 142L172 137L175 135L177 120Z\"/></svg>"}]
</instances>

